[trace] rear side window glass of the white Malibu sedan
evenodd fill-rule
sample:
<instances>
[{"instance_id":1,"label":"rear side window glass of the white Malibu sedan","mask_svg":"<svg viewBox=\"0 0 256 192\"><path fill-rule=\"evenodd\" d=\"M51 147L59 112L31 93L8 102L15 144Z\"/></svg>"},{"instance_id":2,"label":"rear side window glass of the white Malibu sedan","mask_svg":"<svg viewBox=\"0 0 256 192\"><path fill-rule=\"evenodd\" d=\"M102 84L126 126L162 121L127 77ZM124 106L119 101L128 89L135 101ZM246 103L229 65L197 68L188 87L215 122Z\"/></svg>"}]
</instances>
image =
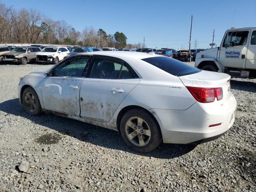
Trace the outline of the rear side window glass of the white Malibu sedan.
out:
<instances>
[{"instance_id":1,"label":"rear side window glass of the white Malibu sedan","mask_svg":"<svg viewBox=\"0 0 256 192\"><path fill-rule=\"evenodd\" d=\"M91 78L118 79L135 78L128 65L117 58L97 56L92 68Z\"/></svg>"}]
</instances>

